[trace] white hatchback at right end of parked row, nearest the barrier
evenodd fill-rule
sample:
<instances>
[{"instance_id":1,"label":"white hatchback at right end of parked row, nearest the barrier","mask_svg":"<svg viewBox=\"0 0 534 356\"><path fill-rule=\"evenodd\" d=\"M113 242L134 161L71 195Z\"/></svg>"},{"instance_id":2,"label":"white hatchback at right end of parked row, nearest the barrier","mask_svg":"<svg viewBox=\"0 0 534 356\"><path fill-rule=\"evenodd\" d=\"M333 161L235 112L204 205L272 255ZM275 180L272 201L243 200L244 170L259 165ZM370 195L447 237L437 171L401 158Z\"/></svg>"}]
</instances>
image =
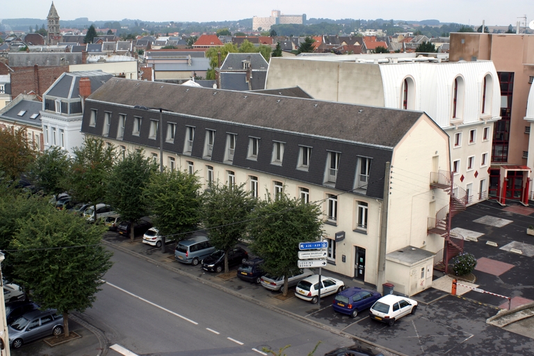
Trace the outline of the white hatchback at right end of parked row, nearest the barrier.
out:
<instances>
[{"instance_id":1,"label":"white hatchback at right end of parked row, nearest the barrier","mask_svg":"<svg viewBox=\"0 0 534 356\"><path fill-rule=\"evenodd\" d=\"M371 319L382 321L389 326L393 326L395 321L407 314L415 314L417 309L416 300L388 294L380 298L369 309Z\"/></svg>"}]
</instances>

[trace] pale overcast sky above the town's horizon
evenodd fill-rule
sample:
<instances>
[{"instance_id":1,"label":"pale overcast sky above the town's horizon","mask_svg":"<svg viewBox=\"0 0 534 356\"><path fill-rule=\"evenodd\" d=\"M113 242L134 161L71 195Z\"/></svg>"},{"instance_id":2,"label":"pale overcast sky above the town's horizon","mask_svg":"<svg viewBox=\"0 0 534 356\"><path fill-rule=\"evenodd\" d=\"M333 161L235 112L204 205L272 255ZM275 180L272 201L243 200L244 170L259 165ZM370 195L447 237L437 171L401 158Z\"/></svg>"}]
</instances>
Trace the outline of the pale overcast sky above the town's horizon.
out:
<instances>
[{"instance_id":1,"label":"pale overcast sky above the town's horizon","mask_svg":"<svg viewBox=\"0 0 534 356\"><path fill-rule=\"evenodd\" d=\"M51 1L2 0L0 19L45 19ZM243 6L243 4L246 4ZM379 5L380 4L380 5ZM518 17L527 15L527 22L534 19L533 0L449 0L443 2L422 0L300 0L300 1L140 1L140 0L55 0L60 19L88 17L90 21L140 19L143 21L208 22L246 19L252 16L268 17L270 10L282 14L305 13L308 18L329 19L438 19L440 22L487 26L515 25L524 21Z\"/></svg>"}]
</instances>

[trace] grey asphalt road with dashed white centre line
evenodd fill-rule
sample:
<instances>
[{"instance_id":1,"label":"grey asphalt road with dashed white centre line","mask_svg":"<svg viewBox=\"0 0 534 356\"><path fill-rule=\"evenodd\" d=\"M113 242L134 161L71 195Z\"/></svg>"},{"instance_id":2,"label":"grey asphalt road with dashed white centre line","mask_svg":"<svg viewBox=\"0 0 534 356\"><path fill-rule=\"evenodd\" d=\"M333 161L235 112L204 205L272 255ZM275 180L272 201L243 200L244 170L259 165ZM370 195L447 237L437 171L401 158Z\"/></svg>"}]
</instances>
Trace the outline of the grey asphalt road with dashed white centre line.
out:
<instances>
[{"instance_id":1,"label":"grey asphalt road with dashed white centre line","mask_svg":"<svg viewBox=\"0 0 534 356\"><path fill-rule=\"evenodd\" d=\"M106 284L84 318L110 344L139 355L261 355L252 349L315 355L352 340L239 300L115 250Z\"/></svg>"}]
</instances>

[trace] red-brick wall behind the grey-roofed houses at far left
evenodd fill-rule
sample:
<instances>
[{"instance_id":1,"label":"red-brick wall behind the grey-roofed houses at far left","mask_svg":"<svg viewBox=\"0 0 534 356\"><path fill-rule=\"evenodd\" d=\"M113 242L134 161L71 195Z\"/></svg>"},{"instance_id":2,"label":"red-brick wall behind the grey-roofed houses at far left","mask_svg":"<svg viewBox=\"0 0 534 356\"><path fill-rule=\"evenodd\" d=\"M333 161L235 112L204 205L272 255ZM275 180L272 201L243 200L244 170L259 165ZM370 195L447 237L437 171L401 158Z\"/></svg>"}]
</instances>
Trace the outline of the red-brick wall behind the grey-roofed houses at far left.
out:
<instances>
[{"instance_id":1,"label":"red-brick wall behind the grey-roofed houses at far left","mask_svg":"<svg viewBox=\"0 0 534 356\"><path fill-rule=\"evenodd\" d=\"M19 94L29 93L31 91L42 96L50 86L65 72L69 67L30 67L30 69L18 70L11 73L11 95L17 97Z\"/></svg>"}]
</instances>

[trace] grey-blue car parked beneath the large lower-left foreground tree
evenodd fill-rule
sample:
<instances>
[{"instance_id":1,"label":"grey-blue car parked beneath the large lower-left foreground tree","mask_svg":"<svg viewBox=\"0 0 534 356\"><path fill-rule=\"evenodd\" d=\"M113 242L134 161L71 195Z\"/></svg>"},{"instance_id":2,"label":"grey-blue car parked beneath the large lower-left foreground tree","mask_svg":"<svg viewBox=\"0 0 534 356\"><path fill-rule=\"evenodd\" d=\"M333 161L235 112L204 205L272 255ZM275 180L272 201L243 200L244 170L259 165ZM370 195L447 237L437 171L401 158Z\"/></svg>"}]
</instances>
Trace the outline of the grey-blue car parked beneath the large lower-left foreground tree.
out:
<instances>
[{"instance_id":1,"label":"grey-blue car parked beneath the large lower-left foreground tree","mask_svg":"<svg viewBox=\"0 0 534 356\"><path fill-rule=\"evenodd\" d=\"M56 309L28 312L8 326L9 343L19 348L24 343L63 333L63 315Z\"/></svg>"}]
</instances>

